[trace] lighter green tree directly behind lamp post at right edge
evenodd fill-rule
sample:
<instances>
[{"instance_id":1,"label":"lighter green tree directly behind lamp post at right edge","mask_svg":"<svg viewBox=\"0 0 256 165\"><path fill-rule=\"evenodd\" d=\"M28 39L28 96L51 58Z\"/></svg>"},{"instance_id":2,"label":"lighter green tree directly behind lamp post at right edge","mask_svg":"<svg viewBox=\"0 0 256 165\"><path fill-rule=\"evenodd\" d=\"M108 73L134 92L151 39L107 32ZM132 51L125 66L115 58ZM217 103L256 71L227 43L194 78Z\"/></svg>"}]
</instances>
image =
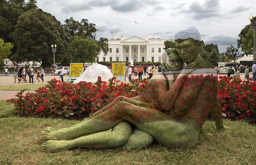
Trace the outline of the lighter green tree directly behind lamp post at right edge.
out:
<instances>
[{"instance_id":1,"label":"lighter green tree directly behind lamp post at right edge","mask_svg":"<svg viewBox=\"0 0 256 165\"><path fill-rule=\"evenodd\" d=\"M244 38L241 38L243 47L242 50L247 54L253 54L253 32L248 31Z\"/></svg>"}]
</instances>

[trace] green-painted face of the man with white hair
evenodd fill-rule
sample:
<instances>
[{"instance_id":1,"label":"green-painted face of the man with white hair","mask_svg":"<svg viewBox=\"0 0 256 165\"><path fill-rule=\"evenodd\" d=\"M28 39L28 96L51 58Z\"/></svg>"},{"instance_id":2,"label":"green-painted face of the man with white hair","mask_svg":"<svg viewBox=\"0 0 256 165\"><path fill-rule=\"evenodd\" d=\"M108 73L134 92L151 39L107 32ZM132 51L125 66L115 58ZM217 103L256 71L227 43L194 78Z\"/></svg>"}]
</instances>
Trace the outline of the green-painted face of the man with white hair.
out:
<instances>
[{"instance_id":1,"label":"green-painted face of the man with white hair","mask_svg":"<svg viewBox=\"0 0 256 165\"><path fill-rule=\"evenodd\" d=\"M188 38L180 43L175 41L175 43L177 52L183 62L189 64L197 58L201 48L201 41L196 44L193 38Z\"/></svg>"}]
</instances>

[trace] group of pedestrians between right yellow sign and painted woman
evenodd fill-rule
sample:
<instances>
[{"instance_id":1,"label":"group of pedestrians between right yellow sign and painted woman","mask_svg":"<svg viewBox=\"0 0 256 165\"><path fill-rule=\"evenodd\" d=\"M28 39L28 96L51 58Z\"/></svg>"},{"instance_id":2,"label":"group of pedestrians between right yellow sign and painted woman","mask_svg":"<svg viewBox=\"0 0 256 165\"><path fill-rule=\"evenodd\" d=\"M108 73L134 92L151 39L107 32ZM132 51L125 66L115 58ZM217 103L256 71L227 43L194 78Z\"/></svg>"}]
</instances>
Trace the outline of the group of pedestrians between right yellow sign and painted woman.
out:
<instances>
[{"instance_id":1,"label":"group of pedestrians between right yellow sign and painted woman","mask_svg":"<svg viewBox=\"0 0 256 165\"><path fill-rule=\"evenodd\" d=\"M142 80L142 75L144 73L144 75L148 74L148 78L147 80L150 80L151 77L156 74L157 72L162 72L162 67L159 66L155 66L152 64L149 64L148 68L146 66L142 67L141 65L139 65L139 67L137 66L131 66L131 65L128 65L125 67L125 70L126 70L126 76L128 77L129 79L129 82L132 81L132 75L134 76L139 76L139 81Z\"/></svg>"}]
</instances>

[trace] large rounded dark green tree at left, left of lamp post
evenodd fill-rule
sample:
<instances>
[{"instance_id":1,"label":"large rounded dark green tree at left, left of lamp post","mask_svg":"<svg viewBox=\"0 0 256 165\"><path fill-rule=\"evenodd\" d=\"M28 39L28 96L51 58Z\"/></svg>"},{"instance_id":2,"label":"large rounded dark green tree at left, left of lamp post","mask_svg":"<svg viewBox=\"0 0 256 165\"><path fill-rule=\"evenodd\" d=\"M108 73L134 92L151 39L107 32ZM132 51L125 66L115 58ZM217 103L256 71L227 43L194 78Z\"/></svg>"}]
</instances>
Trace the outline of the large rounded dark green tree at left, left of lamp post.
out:
<instances>
[{"instance_id":1,"label":"large rounded dark green tree at left, left of lamp post","mask_svg":"<svg viewBox=\"0 0 256 165\"><path fill-rule=\"evenodd\" d=\"M37 61L42 66L53 63L52 44L57 45L57 61L67 47L60 21L41 9L29 10L19 17L14 39L18 48L14 55L17 60Z\"/></svg>"}]
</instances>

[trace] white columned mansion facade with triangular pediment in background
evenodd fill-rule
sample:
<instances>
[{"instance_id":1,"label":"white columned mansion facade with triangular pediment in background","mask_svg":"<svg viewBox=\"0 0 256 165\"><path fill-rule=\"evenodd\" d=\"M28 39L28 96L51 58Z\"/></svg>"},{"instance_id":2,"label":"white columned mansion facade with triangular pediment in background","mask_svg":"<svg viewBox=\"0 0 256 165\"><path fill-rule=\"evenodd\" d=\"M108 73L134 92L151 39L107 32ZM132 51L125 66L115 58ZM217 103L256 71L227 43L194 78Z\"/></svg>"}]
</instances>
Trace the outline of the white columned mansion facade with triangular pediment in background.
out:
<instances>
[{"instance_id":1,"label":"white columned mansion facade with triangular pediment in background","mask_svg":"<svg viewBox=\"0 0 256 165\"><path fill-rule=\"evenodd\" d=\"M161 56L164 52L164 41L167 39L151 38L146 35L144 38L133 35L125 38L124 35L108 40L108 55L103 52L97 57L99 61L127 61L127 62L162 62ZM174 42L174 40L172 40Z\"/></svg>"}]
</instances>

